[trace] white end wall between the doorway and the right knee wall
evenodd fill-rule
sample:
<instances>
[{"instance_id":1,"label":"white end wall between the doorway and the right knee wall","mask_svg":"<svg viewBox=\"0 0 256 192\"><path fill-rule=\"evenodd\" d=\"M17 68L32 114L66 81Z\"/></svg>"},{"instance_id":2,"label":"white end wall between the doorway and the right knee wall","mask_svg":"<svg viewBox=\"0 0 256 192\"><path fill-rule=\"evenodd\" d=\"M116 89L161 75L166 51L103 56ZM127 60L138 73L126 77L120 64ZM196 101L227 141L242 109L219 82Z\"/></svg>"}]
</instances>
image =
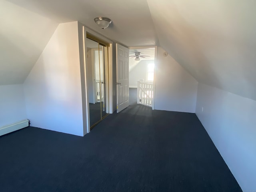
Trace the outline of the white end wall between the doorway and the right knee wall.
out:
<instances>
[{"instance_id":1,"label":"white end wall between the doorway and the right knee wall","mask_svg":"<svg viewBox=\"0 0 256 192\"><path fill-rule=\"evenodd\" d=\"M194 113L198 82L164 52L158 47L155 109Z\"/></svg>"}]
</instances>

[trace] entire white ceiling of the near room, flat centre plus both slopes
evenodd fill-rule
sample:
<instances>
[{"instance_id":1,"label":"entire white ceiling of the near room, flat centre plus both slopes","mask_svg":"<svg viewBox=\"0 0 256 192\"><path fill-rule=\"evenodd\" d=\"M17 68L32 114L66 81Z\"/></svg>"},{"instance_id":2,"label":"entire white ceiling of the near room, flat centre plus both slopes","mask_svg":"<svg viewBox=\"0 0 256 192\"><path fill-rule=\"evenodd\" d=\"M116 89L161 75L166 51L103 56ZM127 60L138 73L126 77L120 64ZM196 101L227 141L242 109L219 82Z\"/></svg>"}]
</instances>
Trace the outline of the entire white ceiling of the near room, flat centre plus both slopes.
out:
<instances>
[{"instance_id":1,"label":"entire white ceiling of the near room, flat centre plus both slopes","mask_svg":"<svg viewBox=\"0 0 256 192\"><path fill-rule=\"evenodd\" d=\"M1 0L0 84L23 82L58 23L160 45L198 82L256 100L255 0ZM113 23L101 30L96 16Z\"/></svg>"}]
</instances>

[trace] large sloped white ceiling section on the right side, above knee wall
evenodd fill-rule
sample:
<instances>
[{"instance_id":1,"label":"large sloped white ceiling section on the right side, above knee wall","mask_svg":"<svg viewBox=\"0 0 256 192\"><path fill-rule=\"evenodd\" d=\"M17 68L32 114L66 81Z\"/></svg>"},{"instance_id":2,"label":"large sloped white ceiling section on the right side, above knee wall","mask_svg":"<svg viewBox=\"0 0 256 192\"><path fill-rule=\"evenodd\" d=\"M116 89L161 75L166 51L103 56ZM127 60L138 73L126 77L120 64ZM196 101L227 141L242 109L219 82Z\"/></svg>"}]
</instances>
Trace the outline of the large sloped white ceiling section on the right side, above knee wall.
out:
<instances>
[{"instance_id":1,"label":"large sloped white ceiling section on the right side, above knee wall","mask_svg":"<svg viewBox=\"0 0 256 192\"><path fill-rule=\"evenodd\" d=\"M160 45L198 82L256 100L255 0L148 0Z\"/></svg>"}]
</instances>

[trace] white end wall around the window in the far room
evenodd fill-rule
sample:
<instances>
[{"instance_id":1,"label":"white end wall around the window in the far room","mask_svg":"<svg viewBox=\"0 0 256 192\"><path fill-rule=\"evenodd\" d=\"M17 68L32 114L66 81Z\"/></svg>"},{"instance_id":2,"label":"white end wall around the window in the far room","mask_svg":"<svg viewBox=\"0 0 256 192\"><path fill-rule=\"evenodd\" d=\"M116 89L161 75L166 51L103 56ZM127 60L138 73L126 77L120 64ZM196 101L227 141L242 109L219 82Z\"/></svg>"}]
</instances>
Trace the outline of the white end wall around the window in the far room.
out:
<instances>
[{"instance_id":1,"label":"white end wall around the window in the far room","mask_svg":"<svg viewBox=\"0 0 256 192\"><path fill-rule=\"evenodd\" d=\"M134 59L132 59L134 60ZM147 81L147 67L148 62L154 63L154 60L140 60L137 62L135 66L132 67L130 70L129 76L129 86L130 87L137 87L138 80L143 79Z\"/></svg>"}]
</instances>

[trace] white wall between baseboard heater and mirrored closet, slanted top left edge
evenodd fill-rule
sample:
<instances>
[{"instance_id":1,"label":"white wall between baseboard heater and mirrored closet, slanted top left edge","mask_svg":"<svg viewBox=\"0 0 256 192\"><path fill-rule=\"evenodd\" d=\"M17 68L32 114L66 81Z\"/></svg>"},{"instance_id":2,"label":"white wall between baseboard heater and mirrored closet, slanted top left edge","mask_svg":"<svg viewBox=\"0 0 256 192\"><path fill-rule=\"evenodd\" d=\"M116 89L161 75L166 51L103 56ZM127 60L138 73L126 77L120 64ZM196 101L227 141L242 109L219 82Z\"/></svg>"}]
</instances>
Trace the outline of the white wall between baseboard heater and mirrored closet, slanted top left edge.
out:
<instances>
[{"instance_id":1,"label":"white wall between baseboard heater and mirrored closet, slanted top left edge","mask_svg":"<svg viewBox=\"0 0 256 192\"><path fill-rule=\"evenodd\" d=\"M84 136L78 22L59 24L24 82L31 126Z\"/></svg>"}]
</instances>

